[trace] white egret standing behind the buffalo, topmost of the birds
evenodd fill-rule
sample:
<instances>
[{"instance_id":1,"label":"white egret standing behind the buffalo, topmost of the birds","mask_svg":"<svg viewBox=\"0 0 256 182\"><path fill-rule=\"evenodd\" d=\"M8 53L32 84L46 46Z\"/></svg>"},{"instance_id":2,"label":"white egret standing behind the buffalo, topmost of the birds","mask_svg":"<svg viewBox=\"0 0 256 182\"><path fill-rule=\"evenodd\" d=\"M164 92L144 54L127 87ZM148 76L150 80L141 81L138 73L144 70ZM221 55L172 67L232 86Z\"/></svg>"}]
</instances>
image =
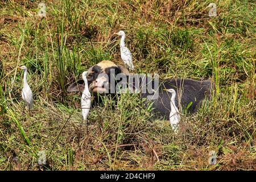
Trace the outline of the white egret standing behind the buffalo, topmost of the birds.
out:
<instances>
[{"instance_id":1,"label":"white egret standing behind the buffalo, topmost of the birds","mask_svg":"<svg viewBox=\"0 0 256 182\"><path fill-rule=\"evenodd\" d=\"M125 64L129 67L129 69L133 71L134 70L133 56L131 56L131 52L129 51L129 49L125 47L125 32L121 30L115 34L121 36L121 42L120 42L121 58L123 62L125 62Z\"/></svg>"}]
</instances>

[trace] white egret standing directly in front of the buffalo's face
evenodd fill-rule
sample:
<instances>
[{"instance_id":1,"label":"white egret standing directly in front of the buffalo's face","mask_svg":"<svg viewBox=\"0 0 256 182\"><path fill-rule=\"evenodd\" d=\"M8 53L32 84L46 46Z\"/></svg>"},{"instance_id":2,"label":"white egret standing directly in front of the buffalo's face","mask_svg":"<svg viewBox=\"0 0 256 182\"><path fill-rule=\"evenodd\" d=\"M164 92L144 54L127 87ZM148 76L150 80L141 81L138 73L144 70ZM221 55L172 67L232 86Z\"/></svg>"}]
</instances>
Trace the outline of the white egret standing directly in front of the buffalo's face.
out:
<instances>
[{"instance_id":1,"label":"white egret standing directly in front of the buffalo's face","mask_svg":"<svg viewBox=\"0 0 256 182\"><path fill-rule=\"evenodd\" d=\"M82 80L84 80L84 91L81 97L81 107L82 107L82 118L86 121L89 111L90 111L90 92L86 76L88 72L82 72Z\"/></svg>"}]
</instances>

